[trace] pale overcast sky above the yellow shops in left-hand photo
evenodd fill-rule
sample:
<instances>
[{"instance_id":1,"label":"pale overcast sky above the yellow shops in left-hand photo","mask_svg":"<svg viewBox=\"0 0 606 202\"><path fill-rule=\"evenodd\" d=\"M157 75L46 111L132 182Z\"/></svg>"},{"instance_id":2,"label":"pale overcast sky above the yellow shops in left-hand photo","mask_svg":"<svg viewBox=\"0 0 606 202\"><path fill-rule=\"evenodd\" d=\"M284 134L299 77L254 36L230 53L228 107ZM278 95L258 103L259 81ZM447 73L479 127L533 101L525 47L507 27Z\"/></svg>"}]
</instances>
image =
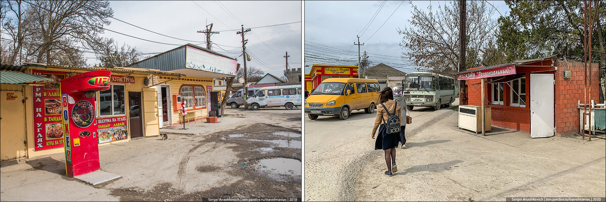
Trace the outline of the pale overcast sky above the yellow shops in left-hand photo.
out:
<instances>
[{"instance_id":1,"label":"pale overcast sky above the yellow shops in left-hand photo","mask_svg":"<svg viewBox=\"0 0 606 202\"><path fill-rule=\"evenodd\" d=\"M236 35L235 30L224 30L239 30L242 23L244 23L244 29L247 29L302 21L301 4L301 1L195 1L195 3L193 1L110 1L110 7L114 10L114 18L175 38L205 41L204 33L197 31L205 30L205 25L213 23L212 30L220 31L220 33L211 35L211 41L225 50L214 46L212 50L232 58L238 57L238 63L242 63L242 56L240 56L242 38L240 35ZM168 44L200 44L200 46L206 47L206 44L201 44L202 42L168 38L115 19L110 18L110 21L112 24L105 26L106 29L138 38ZM283 70L285 69L285 58L282 56L288 51L289 66L300 68L302 66L301 26L302 23L299 22L251 29L251 32L244 35L248 39L247 52L253 56L252 61L247 62L247 66L257 67L266 73L281 77L284 75ZM125 42L145 53L166 52L178 47L177 45L143 41L107 30L102 36L113 38L120 45ZM86 57L95 56L88 54ZM88 59L88 64L96 62L96 59Z\"/></svg>"}]
</instances>

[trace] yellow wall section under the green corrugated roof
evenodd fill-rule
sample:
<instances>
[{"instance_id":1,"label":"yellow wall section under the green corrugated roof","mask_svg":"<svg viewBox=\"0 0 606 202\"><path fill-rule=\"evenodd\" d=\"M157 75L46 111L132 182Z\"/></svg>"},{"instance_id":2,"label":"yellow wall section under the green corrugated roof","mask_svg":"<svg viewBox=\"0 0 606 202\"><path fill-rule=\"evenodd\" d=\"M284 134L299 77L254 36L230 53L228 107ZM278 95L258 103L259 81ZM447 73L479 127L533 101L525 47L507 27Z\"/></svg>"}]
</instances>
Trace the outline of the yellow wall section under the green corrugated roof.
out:
<instances>
[{"instance_id":1,"label":"yellow wall section under the green corrugated roof","mask_svg":"<svg viewBox=\"0 0 606 202\"><path fill-rule=\"evenodd\" d=\"M0 84L0 160L27 157L25 149L25 104L22 103L24 86ZM8 100L7 93L16 98Z\"/></svg>"}]
</instances>

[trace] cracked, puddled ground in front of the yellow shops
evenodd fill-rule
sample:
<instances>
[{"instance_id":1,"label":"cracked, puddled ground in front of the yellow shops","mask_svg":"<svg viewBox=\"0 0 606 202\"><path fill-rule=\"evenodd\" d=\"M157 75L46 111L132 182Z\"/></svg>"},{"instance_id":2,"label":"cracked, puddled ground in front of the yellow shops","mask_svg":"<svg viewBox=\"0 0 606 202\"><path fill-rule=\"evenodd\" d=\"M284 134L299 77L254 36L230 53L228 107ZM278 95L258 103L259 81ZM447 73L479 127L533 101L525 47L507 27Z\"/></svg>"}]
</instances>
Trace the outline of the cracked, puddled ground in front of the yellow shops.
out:
<instances>
[{"instance_id":1,"label":"cracked, puddled ground in front of the yellow shops","mask_svg":"<svg viewBox=\"0 0 606 202\"><path fill-rule=\"evenodd\" d=\"M300 109L227 109L217 124L179 127L161 129L168 132L165 141L156 136L101 146L101 169L122 178L97 186L65 177L62 153L2 164L1 200L301 198Z\"/></svg>"}]
</instances>

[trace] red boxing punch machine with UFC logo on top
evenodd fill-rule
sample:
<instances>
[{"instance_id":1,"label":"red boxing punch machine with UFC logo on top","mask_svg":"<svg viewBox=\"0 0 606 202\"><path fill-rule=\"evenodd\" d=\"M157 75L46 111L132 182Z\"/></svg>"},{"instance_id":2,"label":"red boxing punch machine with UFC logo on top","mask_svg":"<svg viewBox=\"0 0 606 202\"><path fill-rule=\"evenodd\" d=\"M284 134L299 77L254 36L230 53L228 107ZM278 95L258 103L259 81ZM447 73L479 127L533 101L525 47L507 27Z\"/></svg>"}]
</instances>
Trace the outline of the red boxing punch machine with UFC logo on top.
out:
<instances>
[{"instance_id":1,"label":"red boxing punch machine with UFC logo on top","mask_svg":"<svg viewBox=\"0 0 606 202\"><path fill-rule=\"evenodd\" d=\"M81 73L60 81L64 128L65 169L76 177L101 169L95 93L110 89L112 72L99 70Z\"/></svg>"}]
</instances>

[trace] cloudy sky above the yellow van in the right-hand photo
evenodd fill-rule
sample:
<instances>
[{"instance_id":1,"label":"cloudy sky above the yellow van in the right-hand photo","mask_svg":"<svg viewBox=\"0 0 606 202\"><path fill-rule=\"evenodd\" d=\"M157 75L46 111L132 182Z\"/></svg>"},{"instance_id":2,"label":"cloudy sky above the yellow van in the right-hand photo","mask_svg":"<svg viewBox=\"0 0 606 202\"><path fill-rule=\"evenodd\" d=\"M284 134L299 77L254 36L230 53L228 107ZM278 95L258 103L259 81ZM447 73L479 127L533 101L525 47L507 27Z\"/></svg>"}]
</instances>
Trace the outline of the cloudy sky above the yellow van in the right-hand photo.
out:
<instances>
[{"instance_id":1,"label":"cloudy sky above the yellow van in the right-hand photo","mask_svg":"<svg viewBox=\"0 0 606 202\"><path fill-rule=\"evenodd\" d=\"M428 5L431 4L433 10L436 10L438 5L444 6L450 4L450 1L387 1L374 21L370 22L368 29L365 32L362 31L382 2L305 1L305 52L313 52L316 55L333 55L345 60L341 64L354 66L358 62L358 45L353 45L353 43L358 42L356 35L360 35L360 43L364 43L361 46L361 52L366 50L367 53L370 53L368 54L370 61L376 62L375 64L384 62L407 73L416 72L416 70L410 69L410 66L405 66L404 62L399 59L402 53L399 46L402 36L398 34L396 29L398 27L404 29L404 27L410 25L408 20L411 19L411 5L417 5L419 9L427 10ZM508 15L509 7L504 1L488 2L494 5L502 15ZM490 7L490 5L488 6ZM396 8L398 9L396 10ZM493 18L498 18L500 16L499 12L494 12ZM393 16L390 18L392 13ZM316 47L310 47L308 44ZM318 44L351 52L331 50ZM305 65L309 66L305 69L306 73L309 73L312 64L326 63L318 60L305 61Z\"/></svg>"}]
</instances>

